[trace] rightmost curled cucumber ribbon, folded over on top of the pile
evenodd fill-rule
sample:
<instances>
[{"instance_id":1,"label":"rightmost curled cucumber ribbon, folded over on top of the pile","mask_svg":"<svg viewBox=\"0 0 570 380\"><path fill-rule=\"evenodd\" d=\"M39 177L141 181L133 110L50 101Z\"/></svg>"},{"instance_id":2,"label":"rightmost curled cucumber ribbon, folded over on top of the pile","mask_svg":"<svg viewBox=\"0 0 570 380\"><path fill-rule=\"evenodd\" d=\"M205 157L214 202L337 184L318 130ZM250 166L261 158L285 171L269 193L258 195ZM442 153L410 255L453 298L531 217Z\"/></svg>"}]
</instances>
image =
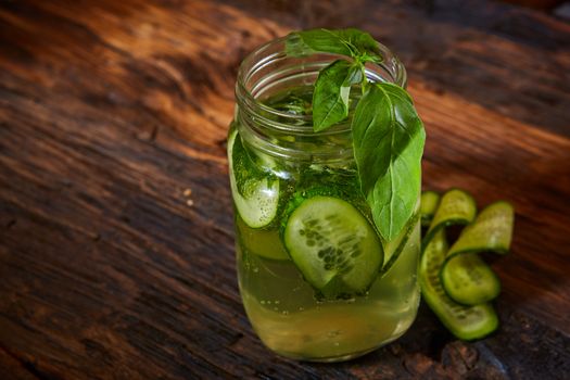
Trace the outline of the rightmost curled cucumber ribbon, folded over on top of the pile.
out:
<instances>
[{"instance_id":1,"label":"rightmost curled cucumber ribbon, folded over on top of the pile","mask_svg":"<svg viewBox=\"0 0 570 380\"><path fill-rule=\"evenodd\" d=\"M512 237L515 213L506 202L484 208L467 226L447 252L441 279L447 294L458 303L476 305L501 293L501 281L477 252L506 254Z\"/></svg>"}]
</instances>

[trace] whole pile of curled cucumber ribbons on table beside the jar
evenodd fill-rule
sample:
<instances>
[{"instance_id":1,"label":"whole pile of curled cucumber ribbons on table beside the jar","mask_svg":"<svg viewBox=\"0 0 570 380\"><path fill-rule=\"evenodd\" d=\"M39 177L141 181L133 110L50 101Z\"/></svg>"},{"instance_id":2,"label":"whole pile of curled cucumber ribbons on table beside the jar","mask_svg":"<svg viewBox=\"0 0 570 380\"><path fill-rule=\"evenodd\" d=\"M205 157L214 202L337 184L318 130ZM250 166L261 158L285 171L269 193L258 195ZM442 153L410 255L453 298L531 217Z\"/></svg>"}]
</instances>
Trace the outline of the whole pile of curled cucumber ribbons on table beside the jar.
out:
<instances>
[{"instance_id":1,"label":"whole pile of curled cucumber ribbons on table beside the jar","mask_svg":"<svg viewBox=\"0 0 570 380\"><path fill-rule=\"evenodd\" d=\"M427 197L434 203L435 197ZM430 214L430 208L427 205L422 211ZM498 295L501 282L478 253L506 254L512 236L514 211L509 203L493 203L477 218L476 212L468 193L458 189L447 191L432 213L420 259L423 299L442 324L461 340L484 338L498 327L489 301ZM445 227L452 225L467 227L449 249Z\"/></svg>"}]
</instances>

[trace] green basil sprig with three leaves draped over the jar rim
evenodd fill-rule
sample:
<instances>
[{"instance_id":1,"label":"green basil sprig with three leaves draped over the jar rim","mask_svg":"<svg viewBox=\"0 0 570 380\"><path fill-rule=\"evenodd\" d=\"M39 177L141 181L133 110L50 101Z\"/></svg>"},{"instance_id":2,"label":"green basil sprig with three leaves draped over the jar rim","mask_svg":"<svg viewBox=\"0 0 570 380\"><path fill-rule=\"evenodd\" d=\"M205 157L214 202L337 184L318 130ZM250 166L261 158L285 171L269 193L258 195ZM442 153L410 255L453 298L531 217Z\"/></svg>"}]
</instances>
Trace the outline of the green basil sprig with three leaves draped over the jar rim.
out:
<instances>
[{"instance_id":1,"label":"green basil sprig with three leaves draped over the jar rim","mask_svg":"<svg viewBox=\"0 0 570 380\"><path fill-rule=\"evenodd\" d=\"M345 55L320 71L313 92L313 129L326 130L349 116L353 85L363 97L351 127L360 188L381 237L396 238L414 213L421 187L423 124L410 96L389 83L368 83L365 63L380 63L378 42L357 29L313 29L288 36L293 56L318 52Z\"/></svg>"}]
</instances>

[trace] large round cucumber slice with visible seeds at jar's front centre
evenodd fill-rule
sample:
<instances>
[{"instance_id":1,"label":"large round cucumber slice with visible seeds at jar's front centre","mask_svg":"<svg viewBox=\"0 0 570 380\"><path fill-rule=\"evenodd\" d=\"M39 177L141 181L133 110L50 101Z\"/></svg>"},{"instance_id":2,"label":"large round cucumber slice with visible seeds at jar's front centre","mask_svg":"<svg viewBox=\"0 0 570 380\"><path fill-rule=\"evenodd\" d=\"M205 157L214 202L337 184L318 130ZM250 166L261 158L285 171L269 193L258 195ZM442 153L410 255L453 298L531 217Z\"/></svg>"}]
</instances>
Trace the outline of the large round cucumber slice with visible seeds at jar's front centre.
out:
<instances>
[{"instance_id":1,"label":"large round cucumber slice with visible seeds at jar's front centre","mask_svg":"<svg viewBox=\"0 0 570 380\"><path fill-rule=\"evenodd\" d=\"M289 216L283 240L305 280L327 299L365 292L383 263L375 229L340 198L304 200Z\"/></svg>"}]
</instances>

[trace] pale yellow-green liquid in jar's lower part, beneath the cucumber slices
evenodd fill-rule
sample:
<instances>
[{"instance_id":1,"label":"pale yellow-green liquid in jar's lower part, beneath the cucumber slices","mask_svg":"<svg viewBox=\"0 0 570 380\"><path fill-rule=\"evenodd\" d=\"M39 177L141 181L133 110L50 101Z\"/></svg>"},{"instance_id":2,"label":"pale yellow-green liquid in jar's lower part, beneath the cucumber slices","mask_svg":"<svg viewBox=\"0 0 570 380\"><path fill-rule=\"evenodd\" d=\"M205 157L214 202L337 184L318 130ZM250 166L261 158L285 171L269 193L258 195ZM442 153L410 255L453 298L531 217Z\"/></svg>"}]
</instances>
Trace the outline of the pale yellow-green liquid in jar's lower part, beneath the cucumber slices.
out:
<instances>
[{"instance_id":1,"label":"pale yellow-green liquid in jar's lower part, beneath the cucumber slices","mask_svg":"<svg viewBox=\"0 0 570 380\"><path fill-rule=\"evenodd\" d=\"M251 233L254 238L255 230ZM339 301L317 301L293 262L253 254L238 239L240 290L253 328L273 351L307 360L344 360L395 340L419 304L419 235L418 223L397 261L367 294ZM266 249L281 252L279 244L276 231Z\"/></svg>"}]
</instances>

